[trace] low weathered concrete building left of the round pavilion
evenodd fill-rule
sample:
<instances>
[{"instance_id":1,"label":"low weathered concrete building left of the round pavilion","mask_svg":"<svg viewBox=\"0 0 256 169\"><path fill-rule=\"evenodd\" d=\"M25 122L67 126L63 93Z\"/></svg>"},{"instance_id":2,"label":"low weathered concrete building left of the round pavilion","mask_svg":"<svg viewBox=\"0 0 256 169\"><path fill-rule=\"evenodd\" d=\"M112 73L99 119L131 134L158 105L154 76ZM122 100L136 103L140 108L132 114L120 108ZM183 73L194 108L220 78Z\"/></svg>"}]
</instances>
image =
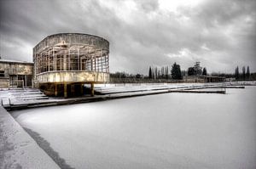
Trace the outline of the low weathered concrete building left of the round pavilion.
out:
<instances>
[{"instance_id":1,"label":"low weathered concrete building left of the round pavilion","mask_svg":"<svg viewBox=\"0 0 256 169\"><path fill-rule=\"evenodd\" d=\"M33 63L0 59L0 88L32 87Z\"/></svg>"}]
</instances>

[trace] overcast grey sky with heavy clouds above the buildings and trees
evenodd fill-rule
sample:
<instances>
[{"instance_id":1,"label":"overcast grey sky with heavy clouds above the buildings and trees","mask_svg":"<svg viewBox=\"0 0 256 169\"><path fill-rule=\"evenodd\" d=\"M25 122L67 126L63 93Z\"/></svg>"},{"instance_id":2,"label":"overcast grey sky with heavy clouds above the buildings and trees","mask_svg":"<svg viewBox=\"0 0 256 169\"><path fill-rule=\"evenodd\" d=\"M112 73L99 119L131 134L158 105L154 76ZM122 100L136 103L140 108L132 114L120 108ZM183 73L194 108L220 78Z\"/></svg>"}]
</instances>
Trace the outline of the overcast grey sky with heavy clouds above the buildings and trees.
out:
<instances>
[{"instance_id":1,"label":"overcast grey sky with heavy clouds above the buildings and trees","mask_svg":"<svg viewBox=\"0 0 256 169\"><path fill-rule=\"evenodd\" d=\"M255 0L0 0L1 56L32 61L44 37L79 32L110 42L111 72L195 61L208 72L252 72L255 19Z\"/></svg>"}]
</instances>

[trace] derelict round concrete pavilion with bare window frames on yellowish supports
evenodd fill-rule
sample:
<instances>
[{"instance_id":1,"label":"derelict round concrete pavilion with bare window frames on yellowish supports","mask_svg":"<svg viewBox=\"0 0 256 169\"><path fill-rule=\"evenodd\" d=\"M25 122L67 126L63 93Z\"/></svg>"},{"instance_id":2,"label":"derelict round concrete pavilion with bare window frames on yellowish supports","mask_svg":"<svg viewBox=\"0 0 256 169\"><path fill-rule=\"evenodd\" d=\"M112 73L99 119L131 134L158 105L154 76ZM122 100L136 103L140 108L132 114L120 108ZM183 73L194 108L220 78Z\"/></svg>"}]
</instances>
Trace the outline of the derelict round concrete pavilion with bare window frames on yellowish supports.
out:
<instances>
[{"instance_id":1,"label":"derelict round concrete pavilion with bare window frames on yellowish supports","mask_svg":"<svg viewBox=\"0 0 256 169\"><path fill-rule=\"evenodd\" d=\"M34 85L47 95L84 93L85 83L109 81L109 42L80 33L45 37L33 48Z\"/></svg>"}]
</instances>

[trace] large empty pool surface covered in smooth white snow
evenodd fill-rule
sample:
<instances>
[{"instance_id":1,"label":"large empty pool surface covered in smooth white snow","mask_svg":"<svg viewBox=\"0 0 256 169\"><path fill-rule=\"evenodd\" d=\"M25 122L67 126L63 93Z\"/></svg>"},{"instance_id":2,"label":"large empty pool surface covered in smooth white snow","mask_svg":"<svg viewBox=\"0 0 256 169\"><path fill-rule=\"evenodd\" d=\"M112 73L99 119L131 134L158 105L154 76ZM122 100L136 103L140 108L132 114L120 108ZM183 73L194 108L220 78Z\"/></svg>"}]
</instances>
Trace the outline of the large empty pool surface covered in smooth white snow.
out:
<instances>
[{"instance_id":1,"label":"large empty pool surface covered in smooth white snow","mask_svg":"<svg viewBox=\"0 0 256 169\"><path fill-rule=\"evenodd\" d=\"M75 168L256 168L256 87L12 112Z\"/></svg>"}]
</instances>

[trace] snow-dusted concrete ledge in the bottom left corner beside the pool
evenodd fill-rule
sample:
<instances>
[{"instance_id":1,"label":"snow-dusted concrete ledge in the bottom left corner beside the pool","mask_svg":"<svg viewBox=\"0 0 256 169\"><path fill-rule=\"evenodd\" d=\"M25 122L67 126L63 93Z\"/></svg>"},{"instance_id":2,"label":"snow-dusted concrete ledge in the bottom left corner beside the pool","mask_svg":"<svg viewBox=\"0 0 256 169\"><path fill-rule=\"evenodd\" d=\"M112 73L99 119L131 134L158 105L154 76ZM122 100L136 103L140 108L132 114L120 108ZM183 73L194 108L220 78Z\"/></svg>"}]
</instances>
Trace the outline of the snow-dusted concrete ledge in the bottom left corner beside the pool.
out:
<instances>
[{"instance_id":1,"label":"snow-dusted concrete ledge in the bottom left corner beside the pool","mask_svg":"<svg viewBox=\"0 0 256 169\"><path fill-rule=\"evenodd\" d=\"M60 168L2 106L0 168Z\"/></svg>"}]
</instances>

